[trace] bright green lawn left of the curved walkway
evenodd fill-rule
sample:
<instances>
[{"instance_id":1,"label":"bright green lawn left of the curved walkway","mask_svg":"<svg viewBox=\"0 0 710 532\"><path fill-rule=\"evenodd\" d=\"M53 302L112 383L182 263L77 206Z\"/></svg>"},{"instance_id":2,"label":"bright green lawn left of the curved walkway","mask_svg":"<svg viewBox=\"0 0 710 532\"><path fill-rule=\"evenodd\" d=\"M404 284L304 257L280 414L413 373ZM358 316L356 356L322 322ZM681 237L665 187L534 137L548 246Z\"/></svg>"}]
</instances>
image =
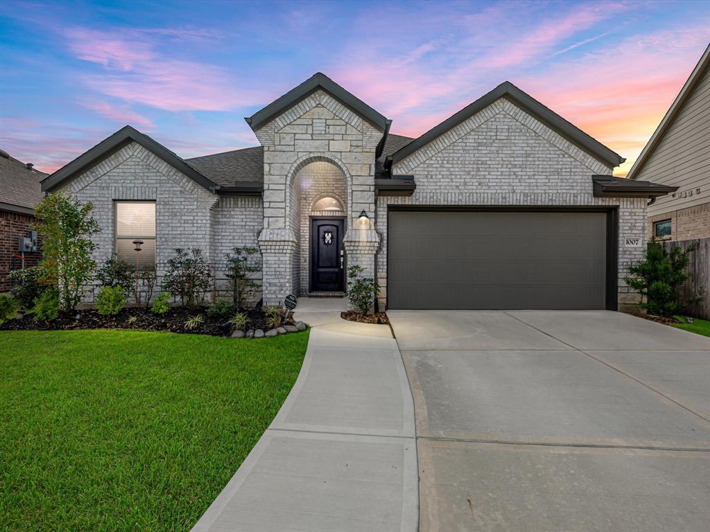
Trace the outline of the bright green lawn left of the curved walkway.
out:
<instances>
[{"instance_id":1,"label":"bright green lawn left of the curved walkway","mask_svg":"<svg viewBox=\"0 0 710 532\"><path fill-rule=\"evenodd\" d=\"M188 531L275 416L307 333L0 333L0 531Z\"/></svg>"}]
</instances>

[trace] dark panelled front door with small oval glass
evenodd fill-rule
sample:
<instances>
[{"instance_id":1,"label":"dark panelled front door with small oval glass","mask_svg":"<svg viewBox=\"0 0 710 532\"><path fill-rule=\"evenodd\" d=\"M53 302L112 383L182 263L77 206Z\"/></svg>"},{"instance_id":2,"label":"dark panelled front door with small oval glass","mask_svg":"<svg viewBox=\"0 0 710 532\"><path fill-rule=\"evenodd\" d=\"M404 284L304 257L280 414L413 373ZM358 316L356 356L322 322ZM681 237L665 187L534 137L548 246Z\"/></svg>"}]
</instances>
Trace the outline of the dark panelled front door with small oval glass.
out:
<instances>
[{"instance_id":1,"label":"dark panelled front door with small oval glass","mask_svg":"<svg viewBox=\"0 0 710 532\"><path fill-rule=\"evenodd\" d=\"M311 292L343 292L342 218L311 218Z\"/></svg>"}]
</instances>

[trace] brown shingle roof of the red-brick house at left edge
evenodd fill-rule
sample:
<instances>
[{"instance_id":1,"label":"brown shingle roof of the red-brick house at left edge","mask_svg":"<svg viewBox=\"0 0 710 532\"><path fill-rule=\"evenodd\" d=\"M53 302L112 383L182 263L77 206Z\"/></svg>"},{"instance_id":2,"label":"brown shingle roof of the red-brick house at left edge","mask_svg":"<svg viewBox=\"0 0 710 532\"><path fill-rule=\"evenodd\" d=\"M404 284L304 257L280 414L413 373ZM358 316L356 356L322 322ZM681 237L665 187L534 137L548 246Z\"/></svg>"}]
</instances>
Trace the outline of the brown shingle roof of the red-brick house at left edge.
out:
<instances>
[{"instance_id":1,"label":"brown shingle roof of the red-brick house at left edge","mask_svg":"<svg viewBox=\"0 0 710 532\"><path fill-rule=\"evenodd\" d=\"M40 180L46 176L0 150L0 210L33 214L44 197Z\"/></svg>"}]
</instances>

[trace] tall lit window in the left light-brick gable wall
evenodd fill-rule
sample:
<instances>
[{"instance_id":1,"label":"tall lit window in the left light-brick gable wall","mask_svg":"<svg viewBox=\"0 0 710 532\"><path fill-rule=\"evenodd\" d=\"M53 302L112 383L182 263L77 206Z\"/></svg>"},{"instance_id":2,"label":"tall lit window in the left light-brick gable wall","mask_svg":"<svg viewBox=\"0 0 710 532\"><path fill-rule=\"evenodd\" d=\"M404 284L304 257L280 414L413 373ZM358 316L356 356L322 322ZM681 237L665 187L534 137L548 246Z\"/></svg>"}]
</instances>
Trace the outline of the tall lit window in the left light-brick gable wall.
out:
<instances>
[{"instance_id":1,"label":"tall lit window in the left light-brick gable wall","mask_svg":"<svg viewBox=\"0 0 710 532\"><path fill-rule=\"evenodd\" d=\"M155 267L155 201L116 201L115 234L119 259L142 270Z\"/></svg>"}]
</instances>

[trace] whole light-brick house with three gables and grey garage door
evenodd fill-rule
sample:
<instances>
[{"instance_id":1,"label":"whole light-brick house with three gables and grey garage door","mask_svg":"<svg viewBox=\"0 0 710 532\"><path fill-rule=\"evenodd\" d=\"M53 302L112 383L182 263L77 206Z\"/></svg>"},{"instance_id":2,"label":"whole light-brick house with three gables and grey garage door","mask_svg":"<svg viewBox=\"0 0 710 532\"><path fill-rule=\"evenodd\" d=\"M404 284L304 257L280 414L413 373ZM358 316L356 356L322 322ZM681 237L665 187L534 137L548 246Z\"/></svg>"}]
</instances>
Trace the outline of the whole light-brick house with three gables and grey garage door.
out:
<instances>
[{"instance_id":1,"label":"whole light-brick house with three gables and grey garage door","mask_svg":"<svg viewBox=\"0 0 710 532\"><path fill-rule=\"evenodd\" d=\"M611 177L620 155L508 82L419 138L320 73L246 122L259 146L192 159L126 126L42 189L94 203L99 261L140 238L158 275L195 247L219 279L254 245L265 304L342 294L358 264L380 309L633 305L646 204L674 190Z\"/></svg>"}]
</instances>

